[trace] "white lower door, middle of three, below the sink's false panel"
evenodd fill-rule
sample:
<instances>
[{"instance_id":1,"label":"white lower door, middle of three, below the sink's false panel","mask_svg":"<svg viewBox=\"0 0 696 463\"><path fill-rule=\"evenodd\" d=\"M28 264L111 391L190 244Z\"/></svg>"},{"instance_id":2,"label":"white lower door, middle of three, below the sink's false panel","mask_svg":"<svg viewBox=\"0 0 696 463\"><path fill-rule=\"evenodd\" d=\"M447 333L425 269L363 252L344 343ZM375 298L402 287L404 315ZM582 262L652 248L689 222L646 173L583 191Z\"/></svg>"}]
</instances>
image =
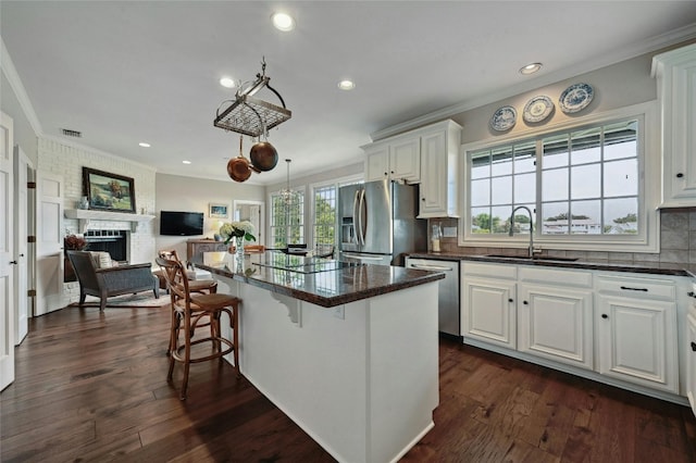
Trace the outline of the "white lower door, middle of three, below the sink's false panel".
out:
<instances>
[{"instance_id":1,"label":"white lower door, middle of three, below the sink's false panel","mask_svg":"<svg viewBox=\"0 0 696 463\"><path fill-rule=\"evenodd\" d=\"M593 368L591 290L520 285L518 350Z\"/></svg>"}]
</instances>

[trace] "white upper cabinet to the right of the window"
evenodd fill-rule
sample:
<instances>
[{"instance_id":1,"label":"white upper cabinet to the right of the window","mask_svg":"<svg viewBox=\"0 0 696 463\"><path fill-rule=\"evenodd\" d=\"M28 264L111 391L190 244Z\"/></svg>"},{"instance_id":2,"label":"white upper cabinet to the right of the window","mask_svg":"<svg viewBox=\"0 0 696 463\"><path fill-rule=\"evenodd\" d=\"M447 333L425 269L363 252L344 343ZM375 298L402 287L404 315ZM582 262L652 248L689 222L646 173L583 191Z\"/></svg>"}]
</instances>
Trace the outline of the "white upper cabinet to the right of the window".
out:
<instances>
[{"instance_id":1,"label":"white upper cabinet to the right of the window","mask_svg":"<svg viewBox=\"0 0 696 463\"><path fill-rule=\"evenodd\" d=\"M696 205L696 43L652 58L662 133L662 207Z\"/></svg>"}]
</instances>

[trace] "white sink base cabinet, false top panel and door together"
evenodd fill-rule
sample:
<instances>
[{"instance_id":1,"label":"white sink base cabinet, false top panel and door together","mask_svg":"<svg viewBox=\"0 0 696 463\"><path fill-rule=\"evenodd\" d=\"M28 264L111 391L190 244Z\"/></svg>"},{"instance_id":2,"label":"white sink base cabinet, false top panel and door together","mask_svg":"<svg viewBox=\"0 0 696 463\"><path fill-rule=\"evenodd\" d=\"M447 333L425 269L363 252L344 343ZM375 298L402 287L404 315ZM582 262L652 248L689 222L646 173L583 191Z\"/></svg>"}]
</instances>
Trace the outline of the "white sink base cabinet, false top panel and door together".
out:
<instances>
[{"instance_id":1,"label":"white sink base cabinet, false top panel and door together","mask_svg":"<svg viewBox=\"0 0 696 463\"><path fill-rule=\"evenodd\" d=\"M519 281L518 350L592 370L592 273L521 266Z\"/></svg>"}]
</instances>

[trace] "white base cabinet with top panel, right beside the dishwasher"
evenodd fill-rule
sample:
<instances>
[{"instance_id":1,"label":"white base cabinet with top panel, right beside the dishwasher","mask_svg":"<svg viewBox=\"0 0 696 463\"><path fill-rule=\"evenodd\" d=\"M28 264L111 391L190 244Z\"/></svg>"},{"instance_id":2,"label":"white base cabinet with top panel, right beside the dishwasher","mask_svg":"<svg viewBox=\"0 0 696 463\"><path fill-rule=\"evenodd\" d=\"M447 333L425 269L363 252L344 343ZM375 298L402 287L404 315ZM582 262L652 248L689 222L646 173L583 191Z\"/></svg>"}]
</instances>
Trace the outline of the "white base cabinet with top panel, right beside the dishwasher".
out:
<instances>
[{"instance_id":1,"label":"white base cabinet with top panel, right beside the dishwasher","mask_svg":"<svg viewBox=\"0 0 696 463\"><path fill-rule=\"evenodd\" d=\"M515 277L514 266L472 263L462 265L463 337L515 349Z\"/></svg>"}]
</instances>

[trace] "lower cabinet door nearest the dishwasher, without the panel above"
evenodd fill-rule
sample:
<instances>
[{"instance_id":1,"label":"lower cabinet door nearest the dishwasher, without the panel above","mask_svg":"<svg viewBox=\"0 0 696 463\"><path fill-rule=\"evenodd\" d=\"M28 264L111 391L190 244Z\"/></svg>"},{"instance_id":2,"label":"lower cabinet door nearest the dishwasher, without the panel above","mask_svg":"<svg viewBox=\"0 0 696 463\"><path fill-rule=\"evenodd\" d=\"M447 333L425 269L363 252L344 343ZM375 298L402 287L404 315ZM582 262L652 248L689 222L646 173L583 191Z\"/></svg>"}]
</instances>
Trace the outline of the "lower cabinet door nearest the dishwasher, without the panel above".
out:
<instances>
[{"instance_id":1,"label":"lower cabinet door nearest the dishwasher, without the panel above","mask_svg":"<svg viewBox=\"0 0 696 463\"><path fill-rule=\"evenodd\" d=\"M471 277L464 277L462 280L462 335L514 349L515 284Z\"/></svg>"}]
</instances>

